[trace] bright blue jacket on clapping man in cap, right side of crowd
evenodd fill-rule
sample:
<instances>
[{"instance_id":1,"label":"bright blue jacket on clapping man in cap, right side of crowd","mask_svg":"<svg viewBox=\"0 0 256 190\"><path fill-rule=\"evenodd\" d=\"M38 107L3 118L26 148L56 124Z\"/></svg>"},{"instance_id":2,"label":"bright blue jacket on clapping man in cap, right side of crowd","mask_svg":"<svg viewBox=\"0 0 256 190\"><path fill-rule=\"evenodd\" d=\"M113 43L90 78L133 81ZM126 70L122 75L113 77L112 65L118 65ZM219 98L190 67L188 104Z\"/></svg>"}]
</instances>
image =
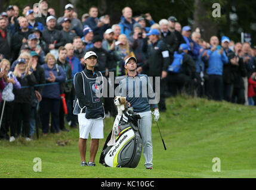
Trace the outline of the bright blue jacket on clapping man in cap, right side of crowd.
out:
<instances>
[{"instance_id":1,"label":"bright blue jacket on clapping man in cap, right side of crowd","mask_svg":"<svg viewBox=\"0 0 256 190\"><path fill-rule=\"evenodd\" d=\"M218 53L220 50L211 51L207 50L207 55L209 55L209 66L206 69L207 74L209 75L222 75L223 73L223 64L227 64L229 59L227 58L226 53L223 51L223 54Z\"/></svg>"}]
</instances>

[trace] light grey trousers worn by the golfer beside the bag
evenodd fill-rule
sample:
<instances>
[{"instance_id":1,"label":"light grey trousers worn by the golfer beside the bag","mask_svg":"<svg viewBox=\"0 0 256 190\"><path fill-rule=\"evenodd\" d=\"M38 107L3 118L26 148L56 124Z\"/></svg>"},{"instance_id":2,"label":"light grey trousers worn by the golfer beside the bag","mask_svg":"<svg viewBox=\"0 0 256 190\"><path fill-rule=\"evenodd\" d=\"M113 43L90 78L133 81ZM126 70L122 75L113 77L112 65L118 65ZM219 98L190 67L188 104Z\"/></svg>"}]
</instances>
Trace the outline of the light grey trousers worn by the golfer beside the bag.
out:
<instances>
[{"instance_id":1,"label":"light grey trousers worn by the golfer beside the bag","mask_svg":"<svg viewBox=\"0 0 256 190\"><path fill-rule=\"evenodd\" d=\"M141 112L138 113L141 119L138 120L138 128L140 129L140 134L143 142L143 155L145 158L144 166L149 168L153 166L153 146L152 146L152 113Z\"/></svg>"}]
</instances>

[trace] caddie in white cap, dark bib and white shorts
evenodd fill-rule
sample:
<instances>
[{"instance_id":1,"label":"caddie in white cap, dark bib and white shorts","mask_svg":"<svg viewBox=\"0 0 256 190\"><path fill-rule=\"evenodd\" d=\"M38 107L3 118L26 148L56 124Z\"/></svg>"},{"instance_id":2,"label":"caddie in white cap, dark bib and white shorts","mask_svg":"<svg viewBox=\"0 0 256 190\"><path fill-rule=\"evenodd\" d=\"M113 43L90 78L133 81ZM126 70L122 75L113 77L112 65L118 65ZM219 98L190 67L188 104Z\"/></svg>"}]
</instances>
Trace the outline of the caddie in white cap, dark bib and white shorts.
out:
<instances>
[{"instance_id":1,"label":"caddie in white cap, dark bib and white shorts","mask_svg":"<svg viewBox=\"0 0 256 190\"><path fill-rule=\"evenodd\" d=\"M79 141L78 147L81 155L81 166L95 166L95 156L98 150L99 140L103 137L103 119L105 111L103 107L103 77L101 72L95 72L97 64L95 52L85 53L85 69L74 76L75 102L73 113L78 115ZM91 136L90 160L87 164L85 154L87 151L87 139Z\"/></svg>"}]
</instances>

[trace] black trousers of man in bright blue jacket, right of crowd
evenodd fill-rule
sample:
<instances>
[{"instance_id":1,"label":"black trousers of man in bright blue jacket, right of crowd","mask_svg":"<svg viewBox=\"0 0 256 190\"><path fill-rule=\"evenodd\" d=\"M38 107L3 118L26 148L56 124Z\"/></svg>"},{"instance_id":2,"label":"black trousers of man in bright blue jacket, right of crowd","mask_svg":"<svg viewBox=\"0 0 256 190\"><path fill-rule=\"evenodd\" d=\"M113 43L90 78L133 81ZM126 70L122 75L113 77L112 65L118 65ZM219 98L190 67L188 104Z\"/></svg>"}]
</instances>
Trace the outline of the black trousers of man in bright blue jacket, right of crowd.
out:
<instances>
[{"instance_id":1,"label":"black trousers of man in bright blue jacket, right of crowd","mask_svg":"<svg viewBox=\"0 0 256 190\"><path fill-rule=\"evenodd\" d=\"M222 75L209 75L206 81L206 94L209 99L221 101L223 99Z\"/></svg>"}]
</instances>

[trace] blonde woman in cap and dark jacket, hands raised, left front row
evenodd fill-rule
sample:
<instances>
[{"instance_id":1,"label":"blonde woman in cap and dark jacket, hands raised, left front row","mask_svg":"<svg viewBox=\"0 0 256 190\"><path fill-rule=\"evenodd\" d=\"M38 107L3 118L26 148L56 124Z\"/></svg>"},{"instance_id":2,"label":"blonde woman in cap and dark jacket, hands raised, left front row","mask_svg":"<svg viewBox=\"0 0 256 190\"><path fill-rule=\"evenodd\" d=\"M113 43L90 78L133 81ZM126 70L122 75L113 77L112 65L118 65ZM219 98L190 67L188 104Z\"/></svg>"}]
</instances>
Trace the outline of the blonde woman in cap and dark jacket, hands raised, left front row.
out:
<instances>
[{"instance_id":1,"label":"blonde woman in cap and dark jacket, hands raised, left front row","mask_svg":"<svg viewBox=\"0 0 256 190\"><path fill-rule=\"evenodd\" d=\"M14 141L15 138L20 135L21 124L23 128L24 137L26 141L30 141L29 138L29 117L31 111L33 85L36 84L35 75L30 71L32 68L32 62L29 59L27 63L24 58L17 60L17 65L14 69L14 76L17 78L21 85L21 89L14 88L14 112L13 123L11 124L11 138L10 141Z\"/></svg>"}]
</instances>

